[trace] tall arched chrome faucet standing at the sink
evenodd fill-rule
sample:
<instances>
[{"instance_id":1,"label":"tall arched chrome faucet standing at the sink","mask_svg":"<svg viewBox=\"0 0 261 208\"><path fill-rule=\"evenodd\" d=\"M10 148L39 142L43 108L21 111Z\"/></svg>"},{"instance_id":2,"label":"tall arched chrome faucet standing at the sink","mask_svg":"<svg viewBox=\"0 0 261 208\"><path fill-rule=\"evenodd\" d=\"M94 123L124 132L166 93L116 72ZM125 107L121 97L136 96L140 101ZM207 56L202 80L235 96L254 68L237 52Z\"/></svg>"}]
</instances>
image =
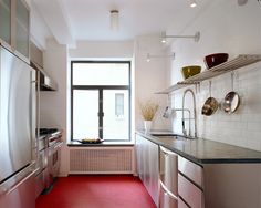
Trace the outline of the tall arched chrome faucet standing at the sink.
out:
<instances>
[{"instance_id":1,"label":"tall arched chrome faucet standing at the sink","mask_svg":"<svg viewBox=\"0 0 261 208\"><path fill-rule=\"evenodd\" d=\"M189 116L189 118L185 118L185 115L184 115L184 112L186 111L186 108L184 108L184 105L185 105L185 96L186 94L190 92L191 95L192 95L192 98L194 98L194 118L191 118ZM197 113L196 113L196 97L195 97L195 93L191 89L187 89L185 92L184 92L184 96L182 96L182 133L185 136L191 136L191 131L190 131L190 121L194 119L194 124L195 124L195 138L197 138ZM190 115L190 114L189 114ZM188 119L189 121L189 132L188 132L188 135L187 135L187 131L185 128L185 119Z\"/></svg>"}]
</instances>

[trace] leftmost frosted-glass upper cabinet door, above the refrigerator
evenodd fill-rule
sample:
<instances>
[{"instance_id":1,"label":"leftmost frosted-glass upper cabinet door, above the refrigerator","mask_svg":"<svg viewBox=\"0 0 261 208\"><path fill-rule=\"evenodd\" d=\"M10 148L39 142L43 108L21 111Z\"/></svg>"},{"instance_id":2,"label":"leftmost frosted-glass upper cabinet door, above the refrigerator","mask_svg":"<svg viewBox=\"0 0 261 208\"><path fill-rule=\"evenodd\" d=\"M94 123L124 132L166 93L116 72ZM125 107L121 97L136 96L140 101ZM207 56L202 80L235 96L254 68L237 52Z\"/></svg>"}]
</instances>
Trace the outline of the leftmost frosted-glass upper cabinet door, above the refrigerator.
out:
<instances>
[{"instance_id":1,"label":"leftmost frosted-glass upper cabinet door, above the refrigerator","mask_svg":"<svg viewBox=\"0 0 261 208\"><path fill-rule=\"evenodd\" d=\"M11 45L11 0L0 0L0 39Z\"/></svg>"}]
</instances>

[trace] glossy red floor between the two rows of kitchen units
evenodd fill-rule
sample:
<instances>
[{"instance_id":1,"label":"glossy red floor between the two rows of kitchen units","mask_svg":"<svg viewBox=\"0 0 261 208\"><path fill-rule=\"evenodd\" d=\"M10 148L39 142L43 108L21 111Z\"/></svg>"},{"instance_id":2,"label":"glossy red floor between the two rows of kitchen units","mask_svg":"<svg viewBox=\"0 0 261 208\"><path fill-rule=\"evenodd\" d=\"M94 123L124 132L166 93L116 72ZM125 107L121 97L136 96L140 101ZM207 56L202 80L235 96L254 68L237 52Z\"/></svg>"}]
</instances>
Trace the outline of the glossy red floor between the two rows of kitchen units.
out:
<instances>
[{"instance_id":1,"label":"glossy red floor between the two rows of kitchen units","mask_svg":"<svg viewBox=\"0 0 261 208\"><path fill-rule=\"evenodd\" d=\"M59 178L36 208L156 208L142 181L133 176Z\"/></svg>"}]
</instances>

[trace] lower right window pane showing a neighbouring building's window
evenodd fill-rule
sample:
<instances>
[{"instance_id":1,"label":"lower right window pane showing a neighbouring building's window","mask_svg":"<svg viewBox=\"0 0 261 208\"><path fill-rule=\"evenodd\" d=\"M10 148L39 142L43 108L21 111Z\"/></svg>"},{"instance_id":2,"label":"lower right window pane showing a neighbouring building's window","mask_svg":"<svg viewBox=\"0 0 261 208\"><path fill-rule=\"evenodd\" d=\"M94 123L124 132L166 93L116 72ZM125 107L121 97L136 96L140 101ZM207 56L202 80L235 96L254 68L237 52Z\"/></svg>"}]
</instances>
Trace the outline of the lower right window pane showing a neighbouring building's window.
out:
<instances>
[{"instance_id":1,"label":"lower right window pane showing a neighbouring building's window","mask_svg":"<svg viewBox=\"0 0 261 208\"><path fill-rule=\"evenodd\" d=\"M115 115L116 94L123 95L124 112L122 116ZM127 90L104 90L103 93L103 138L129 139L129 95Z\"/></svg>"}]
</instances>

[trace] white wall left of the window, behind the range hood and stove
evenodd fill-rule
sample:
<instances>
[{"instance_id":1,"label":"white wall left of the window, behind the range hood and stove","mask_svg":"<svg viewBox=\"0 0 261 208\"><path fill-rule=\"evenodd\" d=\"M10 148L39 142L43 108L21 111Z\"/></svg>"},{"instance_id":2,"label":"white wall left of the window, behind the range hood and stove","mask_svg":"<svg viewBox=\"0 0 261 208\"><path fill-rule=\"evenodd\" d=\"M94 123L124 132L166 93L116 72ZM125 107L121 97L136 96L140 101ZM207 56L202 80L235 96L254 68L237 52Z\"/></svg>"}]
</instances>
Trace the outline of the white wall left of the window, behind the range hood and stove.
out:
<instances>
[{"instance_id":1,"label":"white wall left of the window, behind the range hood and stove","mask_svg":"<svg viewBox=\"0 0 261 208\"><path fill-rule=\"evenodd\" d=\"M40 93L40 126L58 127L63 129L62 164L60 174L67 173L66 147L66 63L67 49L54 40L48 40L46 50L43 52L43 65L46 73L58 83L55 92L41 91Z\"/></svg>"}]
</instances>

